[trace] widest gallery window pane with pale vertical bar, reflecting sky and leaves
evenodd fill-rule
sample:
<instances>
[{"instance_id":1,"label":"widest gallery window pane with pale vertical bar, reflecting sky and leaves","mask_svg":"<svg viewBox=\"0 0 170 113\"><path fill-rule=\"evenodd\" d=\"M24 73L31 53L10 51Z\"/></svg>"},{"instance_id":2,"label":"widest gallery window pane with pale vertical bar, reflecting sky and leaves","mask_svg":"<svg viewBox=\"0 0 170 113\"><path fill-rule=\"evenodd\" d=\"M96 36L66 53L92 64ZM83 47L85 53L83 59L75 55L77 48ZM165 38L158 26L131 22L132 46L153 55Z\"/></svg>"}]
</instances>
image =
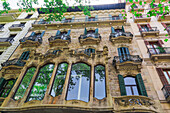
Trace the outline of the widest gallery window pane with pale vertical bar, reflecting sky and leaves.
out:
<instances>
[{"instance_id":1,"label":"widest gallery window pane with pale vertical bar, reflecting sky and leaves","mask_svg":"<svg viewBox=\"0 0 170 113\"><path fill-rule=\"evenodd\" d=\"M90 66L84 63L72 65L66 100L89 101Z\"/></svg>"}]
</instances>

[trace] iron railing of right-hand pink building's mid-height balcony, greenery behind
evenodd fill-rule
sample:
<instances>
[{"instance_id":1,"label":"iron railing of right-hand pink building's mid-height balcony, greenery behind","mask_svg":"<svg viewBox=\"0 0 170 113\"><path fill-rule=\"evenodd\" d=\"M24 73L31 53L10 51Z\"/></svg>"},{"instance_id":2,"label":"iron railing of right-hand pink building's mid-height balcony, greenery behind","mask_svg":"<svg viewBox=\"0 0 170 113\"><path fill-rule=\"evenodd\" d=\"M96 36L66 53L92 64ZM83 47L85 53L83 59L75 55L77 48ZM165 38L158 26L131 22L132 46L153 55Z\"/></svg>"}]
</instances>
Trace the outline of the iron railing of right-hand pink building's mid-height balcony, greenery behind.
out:
<instances>
[{"instance_id":1,"label":"iron railing of right-hand pink building's mid-height balcony, greenery behind","mask_svg":"<svg viewBox=\"0 0 170 113\"><path fill-rule=\"evenodd\" d=\"M150 55L153 54L170 54L170 47L148 48Z\"/></svg>"}]
</instances>

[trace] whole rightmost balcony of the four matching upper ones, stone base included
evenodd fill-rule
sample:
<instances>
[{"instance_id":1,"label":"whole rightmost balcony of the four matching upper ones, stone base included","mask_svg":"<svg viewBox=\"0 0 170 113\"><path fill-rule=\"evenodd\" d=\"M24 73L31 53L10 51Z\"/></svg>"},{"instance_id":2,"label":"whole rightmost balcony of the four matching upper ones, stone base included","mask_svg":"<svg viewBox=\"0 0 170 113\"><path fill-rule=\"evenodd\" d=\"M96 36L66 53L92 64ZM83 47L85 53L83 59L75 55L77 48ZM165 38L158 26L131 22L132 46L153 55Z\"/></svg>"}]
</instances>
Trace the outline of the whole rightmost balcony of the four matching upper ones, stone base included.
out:
<instances>
[{"instance_id":1,"label":"whole rightmost balcony of the four matching upper ones, stone base included","mask_svg":"<svg viewBox=\"0 0 170 113\"><path fill-rule=\"evenodd\" d=\"M114 43L131 43L133 34L131 32L115 32L110 34L109 40Z\"/></svg>"}]
</instances>

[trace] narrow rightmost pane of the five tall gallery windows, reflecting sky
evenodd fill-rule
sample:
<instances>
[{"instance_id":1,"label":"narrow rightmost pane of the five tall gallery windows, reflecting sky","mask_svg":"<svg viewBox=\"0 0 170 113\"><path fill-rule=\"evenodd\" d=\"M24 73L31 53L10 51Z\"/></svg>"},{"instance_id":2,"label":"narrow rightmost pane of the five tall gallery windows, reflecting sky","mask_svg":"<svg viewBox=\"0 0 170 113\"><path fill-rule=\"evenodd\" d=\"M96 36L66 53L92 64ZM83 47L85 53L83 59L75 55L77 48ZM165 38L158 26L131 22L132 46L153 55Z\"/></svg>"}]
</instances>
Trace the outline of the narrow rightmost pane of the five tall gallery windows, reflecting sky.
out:
<instances>
[{"instance_id":1,"label":"narrow rightmost pane of the five tall gallery windows, reflecting sky","mask_svg":"<svg viewBox=\"0 0 170 113\"><path fill-rule=\"evenodd\" d=\"M94 76L94 97L97 99L103 99L106 97L106 87L105 87L105 68L102 65L95 67Z\"/></svg>"}]
</instances>

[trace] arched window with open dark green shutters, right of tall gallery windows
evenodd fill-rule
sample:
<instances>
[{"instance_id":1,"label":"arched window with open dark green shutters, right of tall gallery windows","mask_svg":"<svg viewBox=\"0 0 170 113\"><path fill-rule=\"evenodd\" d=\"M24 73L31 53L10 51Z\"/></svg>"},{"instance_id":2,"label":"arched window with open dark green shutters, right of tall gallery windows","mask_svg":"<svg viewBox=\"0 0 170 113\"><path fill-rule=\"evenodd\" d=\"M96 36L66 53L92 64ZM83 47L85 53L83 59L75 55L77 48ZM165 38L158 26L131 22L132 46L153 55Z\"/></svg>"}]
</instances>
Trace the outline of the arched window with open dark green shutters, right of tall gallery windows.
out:
<instances>
[{"instance_id":1,"label":"arched window with open dark green shutters, right of tall gallery windows","mask_svg":"<svg viewBox=\"0 0 170 113\"><path fill-rule=\"evenodd\" d=\"M118 79L121 96L125 95L148 96L141 74L137 74L136 77L130 76L123 77L122 75L118 75Z\"/></svg>"}]
</instances>

